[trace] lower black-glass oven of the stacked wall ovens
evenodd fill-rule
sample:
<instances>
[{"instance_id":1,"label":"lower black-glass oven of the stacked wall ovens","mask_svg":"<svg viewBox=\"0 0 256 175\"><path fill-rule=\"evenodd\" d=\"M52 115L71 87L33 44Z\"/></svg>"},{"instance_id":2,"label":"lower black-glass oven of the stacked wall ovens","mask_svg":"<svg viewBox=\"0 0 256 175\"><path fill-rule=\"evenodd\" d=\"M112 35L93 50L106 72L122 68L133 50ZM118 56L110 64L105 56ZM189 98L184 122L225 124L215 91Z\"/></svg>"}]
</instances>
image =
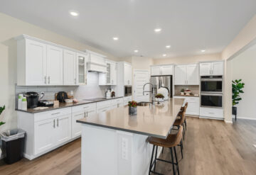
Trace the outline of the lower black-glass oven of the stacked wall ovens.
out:
<instances>
[{"instance_id":1,"label":"lower black-glass oven of the stacked wall ovens","mask_svg":"<svg viewBox=\"0 0 256 175\"><path fill-rule=\"evenodd\" d=\"M223 94L201 94L201 107L223 107Z\"/></svg>"}]
</instances>

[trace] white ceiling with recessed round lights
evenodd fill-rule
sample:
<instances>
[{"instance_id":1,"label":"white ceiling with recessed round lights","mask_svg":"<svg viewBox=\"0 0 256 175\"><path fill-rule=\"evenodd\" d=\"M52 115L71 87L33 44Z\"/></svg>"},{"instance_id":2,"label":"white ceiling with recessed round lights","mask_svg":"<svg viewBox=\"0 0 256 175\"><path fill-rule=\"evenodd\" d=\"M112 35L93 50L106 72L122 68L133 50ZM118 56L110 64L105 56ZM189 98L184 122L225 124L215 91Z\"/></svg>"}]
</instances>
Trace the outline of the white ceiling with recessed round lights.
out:
<instances>
[{"instance_id":1,"label":"white ceiling with recessed round lights","mask_svg":"<svg viewBox=\"0 0 256 175\"><path fill-rule=\"evenodd\" d=\"M256 1L1 0L0 11L117 57L159 58L222 51L255 15Z\"/></svg>"}]
</instances>

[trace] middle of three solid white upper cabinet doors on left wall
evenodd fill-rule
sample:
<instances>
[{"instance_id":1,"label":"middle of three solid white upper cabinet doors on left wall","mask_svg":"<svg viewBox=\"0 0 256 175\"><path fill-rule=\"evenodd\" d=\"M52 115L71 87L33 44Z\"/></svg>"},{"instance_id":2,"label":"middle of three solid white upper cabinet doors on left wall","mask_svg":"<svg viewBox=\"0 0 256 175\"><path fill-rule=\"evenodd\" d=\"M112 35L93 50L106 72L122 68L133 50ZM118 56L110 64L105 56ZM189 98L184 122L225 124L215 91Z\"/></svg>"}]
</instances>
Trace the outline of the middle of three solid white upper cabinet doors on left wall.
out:
<instances>
[{"instance_id":1,"label":"middle of three solid white upper cabinet doors on left wall","mask_svg":"<svg viewBox=\"0 0 256 175\"><path fill-rule=\"evenodd\" d=\"M63 85L63 50L47 45L47 84Z\"/></svg>"}]
</instances>

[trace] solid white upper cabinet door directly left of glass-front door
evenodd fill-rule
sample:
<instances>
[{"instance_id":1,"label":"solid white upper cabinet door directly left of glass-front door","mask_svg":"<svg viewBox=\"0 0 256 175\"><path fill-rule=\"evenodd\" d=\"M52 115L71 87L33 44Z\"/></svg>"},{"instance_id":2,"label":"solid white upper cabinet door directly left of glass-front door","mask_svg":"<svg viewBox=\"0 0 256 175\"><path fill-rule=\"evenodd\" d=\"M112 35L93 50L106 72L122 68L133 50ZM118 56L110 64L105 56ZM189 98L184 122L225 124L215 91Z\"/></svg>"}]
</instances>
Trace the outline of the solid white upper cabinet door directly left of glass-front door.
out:
<instances>
[{"instance_id":1,"label":"solid white upper cabinet door directly left of glass-front door","mask_svg":"<svg viewBox=\"0 0 256 175\"><path fill-rule=\"evenodd\" d=\"M70 50L63 51L63 83L64 85L76 84L76 55Z\"/></svg>"}]
</instances>

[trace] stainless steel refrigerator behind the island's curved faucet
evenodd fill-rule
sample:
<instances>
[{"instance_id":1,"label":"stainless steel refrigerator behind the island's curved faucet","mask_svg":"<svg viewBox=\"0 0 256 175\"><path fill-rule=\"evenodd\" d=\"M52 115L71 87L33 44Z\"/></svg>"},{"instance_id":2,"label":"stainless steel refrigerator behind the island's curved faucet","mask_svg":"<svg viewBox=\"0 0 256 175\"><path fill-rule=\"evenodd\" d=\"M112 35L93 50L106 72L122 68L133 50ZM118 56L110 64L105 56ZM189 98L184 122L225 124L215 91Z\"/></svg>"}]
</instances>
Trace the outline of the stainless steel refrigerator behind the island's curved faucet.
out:
<instances>
[{"instance_id":1,"label":"stainless steel refrigerator behind the island's curved faucet","mask_svg":"<svg viewBox=\"0 0 256 175\"><path fill-rule=\"evenodd\" d=\"M163 76L151 76L150 83L153 84L154 94L157 94L157 89L161 87L166 88L169 91L169 97L173 96L172 91L172 75L163 75ZM152 94L150 94L151 99Z\"/></svg>"}]
</instances>

